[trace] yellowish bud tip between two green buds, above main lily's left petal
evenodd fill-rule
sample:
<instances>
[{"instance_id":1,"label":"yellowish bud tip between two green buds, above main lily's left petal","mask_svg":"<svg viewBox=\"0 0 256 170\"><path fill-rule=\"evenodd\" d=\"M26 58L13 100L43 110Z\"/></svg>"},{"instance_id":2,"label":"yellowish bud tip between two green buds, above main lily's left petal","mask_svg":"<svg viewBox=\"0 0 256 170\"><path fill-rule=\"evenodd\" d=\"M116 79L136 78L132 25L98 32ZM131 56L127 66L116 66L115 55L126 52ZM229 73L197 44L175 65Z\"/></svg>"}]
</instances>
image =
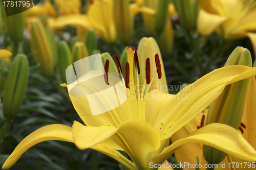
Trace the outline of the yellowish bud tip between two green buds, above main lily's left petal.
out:
<instances>
[{"instance_id":1,"label":"yellowish bud tip between two green buds, above main lily's left petal","mask_svg":"<svg viewBox=\"0 0 256 170\"><path fill-rule=\"evenodd\" d=\"M89 54L86 45L82 42L76 42L72 49L73 63L88 56Z\"/></svg>"}]
</instances>

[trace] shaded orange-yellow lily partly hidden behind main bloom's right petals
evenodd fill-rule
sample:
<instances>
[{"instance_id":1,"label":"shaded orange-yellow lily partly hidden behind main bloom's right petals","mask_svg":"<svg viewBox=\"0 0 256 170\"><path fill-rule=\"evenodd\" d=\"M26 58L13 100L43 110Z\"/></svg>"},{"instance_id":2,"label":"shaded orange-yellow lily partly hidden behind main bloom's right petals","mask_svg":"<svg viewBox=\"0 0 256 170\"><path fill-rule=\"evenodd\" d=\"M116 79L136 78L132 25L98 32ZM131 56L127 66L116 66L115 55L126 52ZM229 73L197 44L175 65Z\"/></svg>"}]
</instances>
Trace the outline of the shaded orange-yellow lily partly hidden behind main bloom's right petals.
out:
<instances>
[{"instance_id":1,"label":"shaded orange-yellow lily partly hidden behind main bloom's right petals","mask_svg":"<svg viewBox=\"0 0 256 170\"><path fill-rule=\"evenodd\" d=\"M256 150L256 106L254 103L256 102L256 80L255 78L250 78L250 84L248 88L248 94L246 99L246 105L244 110L244 115L242 119L242 123L246 125L246 128L243 130L242 136L246 139L246 141L251 145L251 147ZM182 127L179 131L177 131L171 138L172 142L175 142L179 139L182 139L189 135L190 133L197 130L197 126L200 125L202 122L202 115L207 115L207 110L205 110L203 113L200 113L196 118L191 120L188 124L186 124L184 127ZM183 145L181 148L179 148L175 152L175 157L178 162L183 163L189 162L190 164L196 164L197 159L196 157L199 157L199 162L203 162L203 145L202 144L186 144ZM234 170L240 170L249 168L249 166L245 163L247 161L244 161L243 159L238 159L236 156L230 156L227 155L226 158L218 164L218 168L216 169L230 169L229 164L232 166L232 162L238 162L240 165L239 167L236 165L232 168ZM226 168L220 167L221 164L225 163ZM242 163L242 164L241 164ZM248 162L247 162L248 163ZM241 166L243 165L243 167ZM251 166L252 168L252 166ZM184 170L188 170L188 166L183 168Z\"/></svg>"}]
</instances>

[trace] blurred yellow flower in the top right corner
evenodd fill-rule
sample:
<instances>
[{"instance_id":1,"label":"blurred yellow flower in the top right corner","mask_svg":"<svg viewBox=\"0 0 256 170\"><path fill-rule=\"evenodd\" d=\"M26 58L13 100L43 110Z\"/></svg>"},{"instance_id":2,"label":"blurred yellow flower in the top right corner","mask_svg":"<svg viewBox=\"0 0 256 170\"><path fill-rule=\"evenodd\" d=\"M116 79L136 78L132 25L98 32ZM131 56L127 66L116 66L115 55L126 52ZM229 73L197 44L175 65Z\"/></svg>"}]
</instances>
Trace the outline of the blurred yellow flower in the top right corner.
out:
<instances>
[{"instance_id":1,"label":"blurred yellow flower in the top right corner","mask_svg":"<svg viewBox=\"0 0 256 170\"><path fill-rule=\"evenodd\" d=\"M256 2L251 0L198 0L198 31L217 32L225 39L249 37L256 53Z\"/></svg>"}]
</instances>

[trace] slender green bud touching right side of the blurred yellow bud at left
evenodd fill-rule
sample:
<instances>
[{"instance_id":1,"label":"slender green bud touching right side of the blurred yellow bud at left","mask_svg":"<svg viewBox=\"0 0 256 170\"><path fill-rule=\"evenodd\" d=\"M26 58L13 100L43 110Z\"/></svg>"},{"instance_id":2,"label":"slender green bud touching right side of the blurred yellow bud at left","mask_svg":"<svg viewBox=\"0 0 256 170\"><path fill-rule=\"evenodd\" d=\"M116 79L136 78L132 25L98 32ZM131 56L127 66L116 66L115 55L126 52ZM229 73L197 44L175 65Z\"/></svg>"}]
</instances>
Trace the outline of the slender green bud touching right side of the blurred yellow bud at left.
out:
<instances>
[{"instance_id":1,"label":"slender green bud touching right side of the blurred yellow bud at left","mask_svg":"<svg viewBox=\"0 0 256 170\"><path fill-rule=\"evenodd\" d=\"M50 28L46 28L46 37L49 41L50 44L50 48L52 51L52 60L53 60L53 65L56 66L57 62L58 62L58 50L57 50L57 44L56 41L54 39L54 33L53 30Z\"/></svg>"}]
</instances>

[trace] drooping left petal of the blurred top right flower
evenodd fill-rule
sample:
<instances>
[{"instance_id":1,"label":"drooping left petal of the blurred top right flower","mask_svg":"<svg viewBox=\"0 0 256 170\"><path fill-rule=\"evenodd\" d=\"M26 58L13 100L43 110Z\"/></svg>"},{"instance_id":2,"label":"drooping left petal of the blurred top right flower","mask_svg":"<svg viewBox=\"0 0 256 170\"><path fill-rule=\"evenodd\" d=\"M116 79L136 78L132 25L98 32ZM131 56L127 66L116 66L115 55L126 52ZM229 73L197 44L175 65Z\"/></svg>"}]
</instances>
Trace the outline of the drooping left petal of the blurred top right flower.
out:
<instances>
[{"instance_id":1,"label":"drooping left petal of the blurred top right flower","mask_svg":"<svg viewBox=\"0 0 256 170\"><path fill-rule=\"evenodd\" d=\"M210 14L200 10L197 18L197 28L202 35L210 35L226 20L226 17Z\"/></svg>"}]
</instances>

